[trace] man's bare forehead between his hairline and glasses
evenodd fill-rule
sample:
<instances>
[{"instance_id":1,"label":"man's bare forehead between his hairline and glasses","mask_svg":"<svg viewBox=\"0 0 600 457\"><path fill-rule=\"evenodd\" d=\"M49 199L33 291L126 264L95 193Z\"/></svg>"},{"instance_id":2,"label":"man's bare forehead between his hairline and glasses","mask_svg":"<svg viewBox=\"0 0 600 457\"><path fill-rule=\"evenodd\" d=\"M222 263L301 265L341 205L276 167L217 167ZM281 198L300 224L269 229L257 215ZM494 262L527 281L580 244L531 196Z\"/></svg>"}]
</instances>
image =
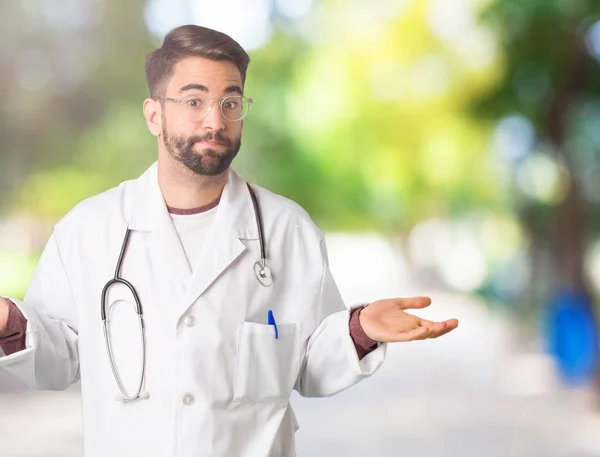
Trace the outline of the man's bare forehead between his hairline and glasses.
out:
<instances>
[{"instance_id":1,"label":"man's bare forehead between his hairline and glasses","mask_svg":"<svg viewBox=\"0 0 600 457\"><path fill-rule=\"evenodd\" d=\"M242 85L242 76L233 62L203 57L185 57L177 62L167 92L174 93L188 84L201 84L211 92L224 87Z\"/></svg>"}]
</instances>

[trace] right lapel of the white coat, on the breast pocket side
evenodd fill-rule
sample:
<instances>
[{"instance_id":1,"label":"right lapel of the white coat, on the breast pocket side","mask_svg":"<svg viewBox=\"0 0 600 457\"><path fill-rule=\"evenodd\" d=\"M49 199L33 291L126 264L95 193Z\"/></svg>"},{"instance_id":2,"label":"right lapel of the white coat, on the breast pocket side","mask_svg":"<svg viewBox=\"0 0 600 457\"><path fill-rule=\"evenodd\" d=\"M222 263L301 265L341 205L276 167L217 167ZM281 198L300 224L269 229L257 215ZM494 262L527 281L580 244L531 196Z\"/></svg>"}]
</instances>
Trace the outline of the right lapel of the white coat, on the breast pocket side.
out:
<instances>
[{"instance_id":1,"label":"right lapel of the white coat, on the breast pocket side","mask_svg":"<svg viewBox=\"0 0 600 457\"><path fill-rule=\"evenodd\" d=\"M241 239L257 239L257 233L246 182L232 170L223 189L215 220L194 266L181 314L246 250Z\"/></svg>"}]
</instances>

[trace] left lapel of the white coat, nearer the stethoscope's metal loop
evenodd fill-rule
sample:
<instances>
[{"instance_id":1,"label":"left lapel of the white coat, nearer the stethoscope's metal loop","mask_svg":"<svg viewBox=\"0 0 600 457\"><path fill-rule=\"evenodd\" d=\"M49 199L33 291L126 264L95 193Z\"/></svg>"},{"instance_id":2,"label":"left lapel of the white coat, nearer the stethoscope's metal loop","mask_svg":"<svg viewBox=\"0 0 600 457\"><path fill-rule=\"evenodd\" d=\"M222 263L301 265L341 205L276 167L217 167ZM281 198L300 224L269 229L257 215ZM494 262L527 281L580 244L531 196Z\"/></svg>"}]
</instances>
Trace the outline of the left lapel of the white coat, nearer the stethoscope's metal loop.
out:
<instances>
[{"instance_id":1,"label":"left lapel of the white coat, nearer the stethoscope's metal loop","mask_svg":"<svg viewBox=\"0 0 600 457\"><path fill-rule=\"evenodd\" d=\"M146 246L151 263L160 271L159 280L168 281L169 288L180 298L174 301L182 301L192 271L158 184L157 163L142 176L137 192L129 227L150 232Z\"/></svg>"}]
</instances>

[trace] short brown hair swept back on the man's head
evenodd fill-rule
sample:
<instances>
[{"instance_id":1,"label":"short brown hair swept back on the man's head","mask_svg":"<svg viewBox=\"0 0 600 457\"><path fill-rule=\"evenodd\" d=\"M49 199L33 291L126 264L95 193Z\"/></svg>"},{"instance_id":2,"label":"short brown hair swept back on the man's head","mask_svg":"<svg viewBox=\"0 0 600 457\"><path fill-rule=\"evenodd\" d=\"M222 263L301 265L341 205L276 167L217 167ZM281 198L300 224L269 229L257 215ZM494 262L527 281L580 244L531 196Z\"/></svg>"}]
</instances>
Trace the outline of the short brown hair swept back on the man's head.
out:
<instances>
[{"instance_id":1,"label":"short brown hair swept back on the man's head","mask_svg":"<svg viewBox=\"0 0 600 457\"><path fill-rule=\"evenodd\" d=\"M166 90L166 83L175 71L175 65L185 57L204 57L211 60L229 60L240 70L242 84L250 57L237 41L216 30L198 25L182 25L171 30L163 45L146 56L146 81L150 96Z\"/></svg>"}]
</instances>

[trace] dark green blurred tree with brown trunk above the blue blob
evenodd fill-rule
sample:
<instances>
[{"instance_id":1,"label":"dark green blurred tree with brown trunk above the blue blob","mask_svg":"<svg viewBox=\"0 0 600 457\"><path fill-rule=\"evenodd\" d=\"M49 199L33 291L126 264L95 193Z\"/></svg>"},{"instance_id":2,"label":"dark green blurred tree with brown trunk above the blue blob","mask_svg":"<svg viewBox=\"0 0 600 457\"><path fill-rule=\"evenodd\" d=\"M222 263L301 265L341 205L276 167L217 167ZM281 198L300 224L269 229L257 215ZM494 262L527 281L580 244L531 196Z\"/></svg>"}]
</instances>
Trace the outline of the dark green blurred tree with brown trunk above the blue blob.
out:
<instances>
[{"instance_id":1,"label":"dark green blurred tree with brown trunk above the blue blob","mask_svg":"<svg viewBox=\"0 0 600 457\"><path fill-rule=\"evenodd\" d=\"M513 204L532 240L537 272L530 291L535 303L565 291L574 291L571 297L593 293L584 254L600 217L600 67L592 55L600 49L600 35L593 32L599 18L600 5L583 0L499 0L483 15L500 39L506 68L476 113L489 119L517 115L535 135L533 147L513 162ZM522 130L509 134L518 142ZM553 170L552 192L536 192L528 183L537 180L539 191ZM550 269L543 265L548 261Z\"/></svg>"}]
</instances>

